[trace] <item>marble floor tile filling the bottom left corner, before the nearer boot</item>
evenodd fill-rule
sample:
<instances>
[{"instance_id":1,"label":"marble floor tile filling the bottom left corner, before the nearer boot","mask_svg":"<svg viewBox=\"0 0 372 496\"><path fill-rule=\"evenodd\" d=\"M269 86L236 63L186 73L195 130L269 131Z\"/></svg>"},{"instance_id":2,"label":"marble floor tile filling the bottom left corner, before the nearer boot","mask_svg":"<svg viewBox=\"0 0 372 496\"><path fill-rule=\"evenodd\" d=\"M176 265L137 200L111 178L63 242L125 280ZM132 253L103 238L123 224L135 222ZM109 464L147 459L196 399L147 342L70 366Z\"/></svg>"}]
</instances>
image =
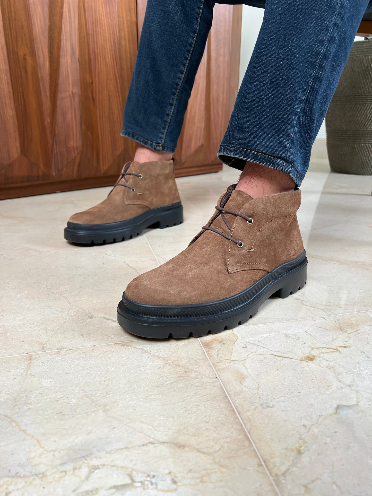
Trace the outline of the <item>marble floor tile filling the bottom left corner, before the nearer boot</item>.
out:
<instances>
[{"instance_id":1,"label":"marble floor tile filling the bottom left corner, before the nearer boot","mask_svg":"<svg viewBox=\"0 0 372 496\"><path fill-rule=\"evenodd\" d=\"M0 360L0 494L272 496L197 340Z\"/></svg>"}]
</instances>

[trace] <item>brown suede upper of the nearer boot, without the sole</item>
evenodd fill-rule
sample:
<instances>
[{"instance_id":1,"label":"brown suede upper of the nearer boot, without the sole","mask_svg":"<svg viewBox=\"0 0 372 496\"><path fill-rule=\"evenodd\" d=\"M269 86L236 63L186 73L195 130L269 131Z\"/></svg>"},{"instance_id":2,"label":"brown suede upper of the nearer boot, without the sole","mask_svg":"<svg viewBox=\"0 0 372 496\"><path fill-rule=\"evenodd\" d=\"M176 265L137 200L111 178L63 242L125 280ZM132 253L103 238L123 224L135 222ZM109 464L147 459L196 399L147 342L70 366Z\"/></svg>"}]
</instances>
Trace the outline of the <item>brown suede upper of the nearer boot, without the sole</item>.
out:
<instances>
[{"instance_id":1,"label":"brown suede upper of the nearer boot, without the sole","mask_svg":"<svg viewBox=\"0 0 372 496\"><path fill-rule=\"evenodd\" d=\"M125 295L148 305L189 305L213 302L244 291L278 265L301 255L304 246L296 212L301 191L253 199L229 186L217 205L240 212L247 220L225 213L229 231L216 210L206 224L243 242L201 231L190 245L165 264L133 279Z\"/></svg>"}]
</instances>

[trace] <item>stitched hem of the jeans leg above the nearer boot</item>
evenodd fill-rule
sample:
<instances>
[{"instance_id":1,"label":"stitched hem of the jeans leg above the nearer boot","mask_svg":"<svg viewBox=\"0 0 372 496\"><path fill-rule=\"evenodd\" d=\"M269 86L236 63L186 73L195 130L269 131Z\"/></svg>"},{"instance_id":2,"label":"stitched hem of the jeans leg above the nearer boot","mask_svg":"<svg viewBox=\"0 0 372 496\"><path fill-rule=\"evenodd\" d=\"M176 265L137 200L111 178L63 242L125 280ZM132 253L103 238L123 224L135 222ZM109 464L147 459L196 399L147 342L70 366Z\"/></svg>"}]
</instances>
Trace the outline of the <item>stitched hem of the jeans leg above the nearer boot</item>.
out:
<instances>
[{"instance_id":1,"label":"stitched hem of the jeans leg above the nearer boot","mask_svg":"<svg viewBox=\"0 0 372 496\"><path fill-rule=\"evenodd\" d=\"M224 164L239 169L240 171L243 171L244 166L248 161L289 174L297 186L300 186L304 179L292 164L284 162L284 160L279 158L266 155L265 153L221 143L217 156Z\"/></svg>"}]
</instances>

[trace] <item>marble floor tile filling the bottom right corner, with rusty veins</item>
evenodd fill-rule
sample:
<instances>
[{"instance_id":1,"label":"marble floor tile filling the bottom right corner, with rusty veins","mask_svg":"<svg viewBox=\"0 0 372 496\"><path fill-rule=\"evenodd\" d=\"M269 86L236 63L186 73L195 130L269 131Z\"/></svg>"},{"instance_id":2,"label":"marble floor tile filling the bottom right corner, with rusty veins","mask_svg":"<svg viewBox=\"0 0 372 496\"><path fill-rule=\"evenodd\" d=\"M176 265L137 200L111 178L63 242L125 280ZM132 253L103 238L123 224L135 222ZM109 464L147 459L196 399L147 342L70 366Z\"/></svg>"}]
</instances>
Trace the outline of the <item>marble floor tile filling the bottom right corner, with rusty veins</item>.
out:
<instances>
[{"instance_id":1,"label":"marble floor tile filling the bottom right corner, with rusty veins","mask_svg":"<svg viewBox=\"0 0 372 496\"><path fill-rule=\"evenodd\" d=\"M201 338L283 496L372 494L372 312Z\"/></svg>"}]
</instances>

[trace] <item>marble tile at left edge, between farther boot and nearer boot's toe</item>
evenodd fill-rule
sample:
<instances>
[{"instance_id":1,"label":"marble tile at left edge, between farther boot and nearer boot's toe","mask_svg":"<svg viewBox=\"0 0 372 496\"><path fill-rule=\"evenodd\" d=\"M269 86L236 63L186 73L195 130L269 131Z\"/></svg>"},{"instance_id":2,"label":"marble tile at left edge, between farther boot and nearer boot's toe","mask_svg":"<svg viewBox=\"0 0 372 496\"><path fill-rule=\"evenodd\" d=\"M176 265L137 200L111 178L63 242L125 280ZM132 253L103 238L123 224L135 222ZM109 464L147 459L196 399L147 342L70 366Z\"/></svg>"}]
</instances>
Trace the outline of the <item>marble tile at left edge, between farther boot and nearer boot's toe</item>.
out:
<instances>
[{"instance_id":1,"label":"marble tile at left edge, between farther boot and nearer boot's toe","mask_svg":"<svg viewBox=\"0 0 372 496\"><path fill-rule=\"evenodd\" d=\"M91 247L63 239L70 214L107 189L0 202L0 356L130 339L116 307L131 279L157 266L146 238Z\"/></svg>"}]
</instances>

